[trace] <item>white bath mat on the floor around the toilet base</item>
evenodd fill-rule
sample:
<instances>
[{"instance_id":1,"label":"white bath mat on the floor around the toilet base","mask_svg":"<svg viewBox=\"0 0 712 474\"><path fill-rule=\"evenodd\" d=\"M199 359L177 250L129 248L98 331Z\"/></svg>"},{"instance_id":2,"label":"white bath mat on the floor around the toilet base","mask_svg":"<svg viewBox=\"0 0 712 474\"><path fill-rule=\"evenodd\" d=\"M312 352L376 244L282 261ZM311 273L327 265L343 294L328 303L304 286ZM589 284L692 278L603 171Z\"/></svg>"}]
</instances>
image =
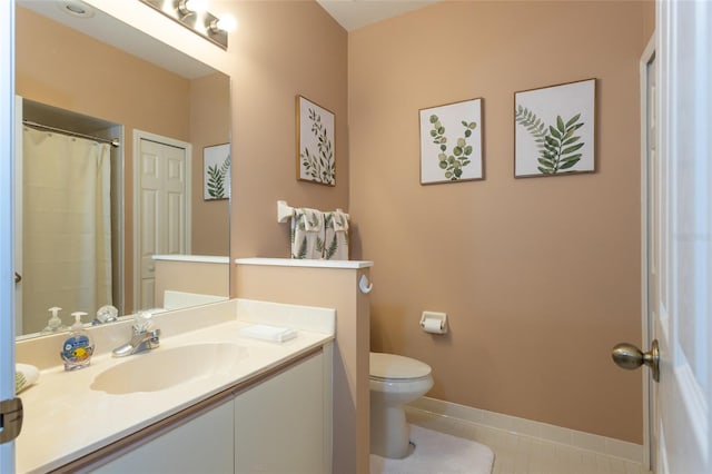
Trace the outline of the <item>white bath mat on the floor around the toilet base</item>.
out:
<instances>
[{"instance_id":1,"label":"white bath mat on the floor around the toilet base","mask_svg":"<svg viewBox=\"0 0 712 474\"><path fill-rule=\"evenodd\" d=\"M403 460L370 455L370 474L491 474L494 453L474 441L411 425L411 448Z\"/></svg>"}]
</instances>

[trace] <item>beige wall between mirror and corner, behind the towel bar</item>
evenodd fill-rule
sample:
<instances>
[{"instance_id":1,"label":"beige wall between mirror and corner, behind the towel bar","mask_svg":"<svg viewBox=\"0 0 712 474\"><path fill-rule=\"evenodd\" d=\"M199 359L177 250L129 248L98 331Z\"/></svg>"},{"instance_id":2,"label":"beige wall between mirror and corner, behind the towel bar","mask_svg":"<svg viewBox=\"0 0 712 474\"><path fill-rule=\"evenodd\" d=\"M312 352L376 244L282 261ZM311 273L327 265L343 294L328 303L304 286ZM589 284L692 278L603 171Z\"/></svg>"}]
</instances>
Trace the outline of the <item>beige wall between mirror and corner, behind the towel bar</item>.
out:
<instances>
[{"instance_id":1,"label":"beige wall between mirror and corner, behind the towel bar","mask_svg":"<svg viewBox=\"0 0 712 474\"><path fill-rule=\"evenodd\" d=\"M347 34L314 1L224 2L239 21L233 72L233 257L288 257L277 200L348 207ZM295 97L333 111L336 186L296 180ZM233 294L235 294L233 283Z\"/></svg>"}]
</instances>

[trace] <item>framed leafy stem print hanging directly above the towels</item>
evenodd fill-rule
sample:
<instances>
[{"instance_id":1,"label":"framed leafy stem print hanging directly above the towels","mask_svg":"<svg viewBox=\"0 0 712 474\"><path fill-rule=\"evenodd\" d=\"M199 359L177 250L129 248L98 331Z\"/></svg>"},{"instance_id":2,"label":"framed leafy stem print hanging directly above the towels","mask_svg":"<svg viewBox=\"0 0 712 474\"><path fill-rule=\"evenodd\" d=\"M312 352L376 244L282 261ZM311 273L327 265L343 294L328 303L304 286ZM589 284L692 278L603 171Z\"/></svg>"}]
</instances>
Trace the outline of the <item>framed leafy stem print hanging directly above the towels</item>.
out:
<instances>
[{"instance_id":1,"label":"framed leafy stem print hanging directly above the towels","mask_svg":"<svg viewBox=\"0 0 712 474\"><path fill-rule=\"evenodd\" d=\"M297 179L336 186L334 113L297 96Z\"/></svg>"}]
</instances>

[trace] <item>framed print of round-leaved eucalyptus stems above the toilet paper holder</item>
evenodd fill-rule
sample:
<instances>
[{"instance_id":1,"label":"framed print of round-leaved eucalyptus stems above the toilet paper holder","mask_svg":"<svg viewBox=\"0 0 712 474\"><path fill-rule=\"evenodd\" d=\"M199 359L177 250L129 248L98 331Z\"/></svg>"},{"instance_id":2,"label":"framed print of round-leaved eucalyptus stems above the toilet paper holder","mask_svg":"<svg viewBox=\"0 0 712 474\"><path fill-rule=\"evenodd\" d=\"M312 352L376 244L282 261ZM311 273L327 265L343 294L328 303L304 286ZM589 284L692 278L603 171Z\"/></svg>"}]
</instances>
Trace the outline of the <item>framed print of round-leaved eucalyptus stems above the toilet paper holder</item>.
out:
<instances>
[{"instance_id":1,"label":"framed print of round-leaved eucalyptus stems above the toilet paper holder","mask_svg":"<svg viewBox=\"0 0 712 474\"><path fill-rule=\"evenodd\" d=\"M421 185L484 179L482 98L419 110Z\"/></svg>"}]
</instances>

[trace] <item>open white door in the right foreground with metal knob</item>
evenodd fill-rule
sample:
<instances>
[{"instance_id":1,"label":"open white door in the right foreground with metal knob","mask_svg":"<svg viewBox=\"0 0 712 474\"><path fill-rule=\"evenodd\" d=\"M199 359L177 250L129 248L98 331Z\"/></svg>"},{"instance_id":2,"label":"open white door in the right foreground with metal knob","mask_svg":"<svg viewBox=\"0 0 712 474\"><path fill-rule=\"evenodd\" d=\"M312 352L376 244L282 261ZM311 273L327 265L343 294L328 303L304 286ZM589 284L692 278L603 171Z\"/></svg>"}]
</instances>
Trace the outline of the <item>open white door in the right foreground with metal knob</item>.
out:
<instances>
[{"instance_id":1,"label":"open white door in the right foreground with metal knob","mask_svg":"<svg viewBox=\"0 0 712 474\"><path fill-rule=\"evenodd\" d=\"M656 2L651 314L660 340L657 473L712 472L712 4Z\"/></svg>"}]
</instances>

